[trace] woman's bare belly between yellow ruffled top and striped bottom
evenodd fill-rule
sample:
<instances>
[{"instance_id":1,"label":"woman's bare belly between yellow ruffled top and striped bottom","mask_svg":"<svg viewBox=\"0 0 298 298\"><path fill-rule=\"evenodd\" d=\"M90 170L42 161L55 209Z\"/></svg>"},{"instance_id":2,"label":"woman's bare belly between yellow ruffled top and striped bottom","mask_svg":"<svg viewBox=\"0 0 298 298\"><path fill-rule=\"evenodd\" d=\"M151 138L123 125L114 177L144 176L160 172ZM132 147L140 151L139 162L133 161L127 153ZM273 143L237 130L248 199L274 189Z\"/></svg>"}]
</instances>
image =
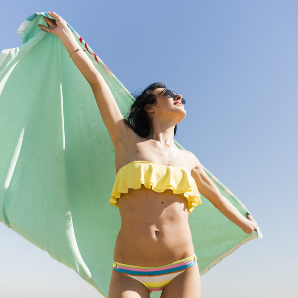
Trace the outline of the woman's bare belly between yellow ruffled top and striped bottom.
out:
<instances>
[{"instance_id":1,"label":"woman's bare belly between yellow ruffled top and striped bottom","mask_svg":"<svg viewBox=\"0 0 298 298\"><path fill-rule=\"evenodd\" d=\"M194 254L187 200L172 190L156 193L142 186L121 194L121 215L114 260L136 266L160 266Z\"/></svg>"}]
</instances>

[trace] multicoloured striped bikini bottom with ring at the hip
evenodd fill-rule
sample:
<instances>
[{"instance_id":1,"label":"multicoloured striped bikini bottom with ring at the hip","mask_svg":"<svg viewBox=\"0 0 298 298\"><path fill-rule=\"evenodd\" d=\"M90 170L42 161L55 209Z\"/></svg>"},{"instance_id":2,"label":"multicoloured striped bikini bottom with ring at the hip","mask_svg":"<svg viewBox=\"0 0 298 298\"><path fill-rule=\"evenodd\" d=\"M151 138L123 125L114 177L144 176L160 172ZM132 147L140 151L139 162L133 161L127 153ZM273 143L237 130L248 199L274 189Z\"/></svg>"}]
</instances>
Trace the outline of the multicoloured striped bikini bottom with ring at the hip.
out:
<instances>
[{"instance_id":1,"label":"multicoloured striped bikini bottom with ring at the hip","mask_svg":"<svg viewBox=\"0 0 298 298\"><path fill-rule=\"evenodd\" d=\"M197 263L197 257L194 254L186 259L157 267L141 267L113 262L114 270L128 275L150 290L161 291L177 275L192 267Z\"/></svg>"}]
</instances>

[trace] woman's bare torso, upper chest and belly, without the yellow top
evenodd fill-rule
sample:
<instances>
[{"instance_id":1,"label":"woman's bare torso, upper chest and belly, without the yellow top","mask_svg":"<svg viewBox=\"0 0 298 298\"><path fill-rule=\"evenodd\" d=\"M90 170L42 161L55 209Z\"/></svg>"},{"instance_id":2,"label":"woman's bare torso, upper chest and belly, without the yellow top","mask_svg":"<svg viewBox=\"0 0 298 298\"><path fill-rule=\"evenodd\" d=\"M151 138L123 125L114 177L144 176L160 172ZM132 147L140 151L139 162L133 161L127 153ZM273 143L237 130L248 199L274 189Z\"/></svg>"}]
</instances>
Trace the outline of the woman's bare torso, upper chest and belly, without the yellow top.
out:
<instances>
[{"instance_id":1,"label":"woman's bare torso, upper chest and belly, without the yellow top","mask_svg":"<svg viewBox=\"0 0 298 298\"><path fill-rule=\"evenodd\" d=\"M191 173L192 157L176 146L136 136L115 146L116 172L134 160L181 167ZM125 152L126 154L123 154ZM114 249L114 260L136 266L160 266L194 254L188 224L187 200L172 190L156 193L142 185L129 189L118 199L121 229Z\"/></svg>"}]
</instances>

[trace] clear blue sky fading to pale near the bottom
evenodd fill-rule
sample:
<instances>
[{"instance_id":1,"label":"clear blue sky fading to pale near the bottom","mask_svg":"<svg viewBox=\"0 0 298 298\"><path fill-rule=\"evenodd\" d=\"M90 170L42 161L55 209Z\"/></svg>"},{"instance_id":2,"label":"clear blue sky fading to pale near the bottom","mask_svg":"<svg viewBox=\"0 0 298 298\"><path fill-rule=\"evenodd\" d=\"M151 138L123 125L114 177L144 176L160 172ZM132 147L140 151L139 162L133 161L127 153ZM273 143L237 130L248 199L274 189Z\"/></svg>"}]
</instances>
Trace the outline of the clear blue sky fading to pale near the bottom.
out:
<instances>
[{"instance_id":1,"label":"clear blue sky fading to pale near the bottom","mask_svg":"<svg viewBox=\"0 0 298 298\"><path fill-rule=\"evenodd\" d=\"M3 1L0 50L55 11L128 91L161 81L186 99L176 140L249 209L264 235L201 277L202 298L297 297L298 2ZM45 66L46 67L46 66ZM0 224L0 297L101 297Z\"/></svg>"}]
</instances>

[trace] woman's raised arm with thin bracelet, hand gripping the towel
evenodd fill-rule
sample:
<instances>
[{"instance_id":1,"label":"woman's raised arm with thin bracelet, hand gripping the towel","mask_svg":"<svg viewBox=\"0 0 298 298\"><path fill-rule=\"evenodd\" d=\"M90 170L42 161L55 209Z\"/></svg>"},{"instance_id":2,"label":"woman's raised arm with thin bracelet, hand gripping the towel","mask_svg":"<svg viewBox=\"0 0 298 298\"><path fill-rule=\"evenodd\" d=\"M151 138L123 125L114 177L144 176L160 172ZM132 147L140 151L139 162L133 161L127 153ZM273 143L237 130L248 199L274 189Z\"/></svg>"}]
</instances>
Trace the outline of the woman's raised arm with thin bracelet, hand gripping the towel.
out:
<instances>
[{"instance_id":1,"label":"woman's raised arm with thin bracelet, hand gripping the towel","mask_svg":"<svg viewBox=\"0 0 298 298\"><path fill-rule=\"evenodd\" d=\"M75 49L80 49L81 47L72 34L72 31L67 26L66 21L57 13L48 12L48 14L55 18L55 20L53 20L44 17L51 28L41 24L38 26L51 34L58 35L69 54ZM84 51L73 52L70 58L72 58L77 68L90 84L101 117L108 129L112 142L115 145L115 142L125 141L126 133L130 128L123 121L124 117L102 75L97 71Z\"/></svg>"}]
</instances>

